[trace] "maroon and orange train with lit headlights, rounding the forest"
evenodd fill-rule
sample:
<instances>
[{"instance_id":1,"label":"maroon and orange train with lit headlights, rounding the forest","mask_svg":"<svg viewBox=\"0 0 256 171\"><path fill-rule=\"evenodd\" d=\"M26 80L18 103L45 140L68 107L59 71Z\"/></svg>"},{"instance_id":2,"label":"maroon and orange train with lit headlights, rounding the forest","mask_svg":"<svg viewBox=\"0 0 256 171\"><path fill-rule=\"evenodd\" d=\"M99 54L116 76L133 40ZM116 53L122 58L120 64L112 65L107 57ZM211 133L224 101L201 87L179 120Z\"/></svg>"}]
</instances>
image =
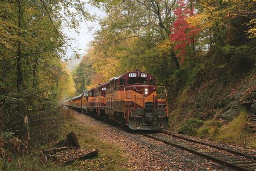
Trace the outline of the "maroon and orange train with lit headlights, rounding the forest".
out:
<instances>
[{"instance_id":1,"label":"maroon and orange train with lit headlights, rounding the forest","mask_svg":"<svg viewBox=\"0 0 256 171\"><path fill-rule=\"evenodd\" d=\"M133 130L169 127L165 86L157 87L151 74L135 70L111 78L91 90L84 90L64 102L65 106L101 120L113 120Z\"/></svg>"}]
</instances>

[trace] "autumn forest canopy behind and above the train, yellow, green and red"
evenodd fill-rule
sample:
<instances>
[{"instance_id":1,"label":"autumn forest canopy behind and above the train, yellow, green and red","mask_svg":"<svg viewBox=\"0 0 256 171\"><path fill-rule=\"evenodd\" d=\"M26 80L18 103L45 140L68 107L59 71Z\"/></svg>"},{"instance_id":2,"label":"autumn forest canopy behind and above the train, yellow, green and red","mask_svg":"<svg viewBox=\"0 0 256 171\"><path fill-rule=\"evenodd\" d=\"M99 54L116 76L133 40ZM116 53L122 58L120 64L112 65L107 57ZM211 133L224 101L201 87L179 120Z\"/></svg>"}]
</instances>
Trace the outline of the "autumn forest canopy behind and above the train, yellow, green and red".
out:
<instances>
[{"instance_id":1,"label":"autumn forest canopy behind and above the train, yellow, green and red","mask_svg":"<svg viewBox=\"0 0 256 171\"><path fill-rule=\"evenodd\" d=\"M86 81L76 78L76 84L82 85L77 93L140 69L156 76L160 85L172 87L170 91L176 94L177 85L203 79L206 67L239 74L253 66L256 32L252 1L124 1L93 5L104 10L106 17L99 22L100 29L83 64L73 73L94 73ZM212 62L206 66L209 57ZM194 78L187 78L190 73Z\"/></svg>"}]
</instances>

